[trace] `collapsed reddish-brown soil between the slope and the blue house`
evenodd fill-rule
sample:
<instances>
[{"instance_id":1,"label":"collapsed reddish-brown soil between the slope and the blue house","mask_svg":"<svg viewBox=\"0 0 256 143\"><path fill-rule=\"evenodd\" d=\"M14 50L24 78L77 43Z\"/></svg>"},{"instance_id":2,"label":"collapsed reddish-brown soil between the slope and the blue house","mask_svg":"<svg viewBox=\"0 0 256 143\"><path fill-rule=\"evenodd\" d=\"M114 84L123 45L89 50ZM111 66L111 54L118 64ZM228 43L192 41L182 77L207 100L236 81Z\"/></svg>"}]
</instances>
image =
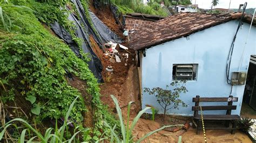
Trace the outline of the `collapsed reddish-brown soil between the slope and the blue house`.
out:
<instances>
[{"instance_id":1,"label":"collapsed reddish-brown soil between the slope and the blue house","mask_svg":"<svg viewBox=\"0 0 256 143\"><path fill-rule=\"evenodd\" d=\"M102 62L103 65L103 71L102 71L102 75L103 75L103 80L105 81L105 83L103 83L102 85L100 85L100 93L103 95L102 96L102 101L106 104L108 104L110 106L110 108L114 108L114 104L112 102L112 98L110 97L110 95L114 95L116 96L118 99L120 99L119 97L127 97L131 94L131 91L126 91L127 89L131 89L131 87L133 86L132 82L133 80L132 78L132 73L133 72L137 72L137 69L134 67L135 61L133 61L132 59L134 59L134 51L129 49L129 52L121 49L121 48L116 48L117 51L119 52L119 54L123 54L123 53L129 53L129 58L128 61L122 61L122 62L115 62L112 63L109 61L109 57L105 58L103 56L103 51L102 49L100 49L98 47L98 45L96 44L95 40L92 38L92 36L90 36L90 40L92 43L92 49L93 52L96 53L96 55L98 56L98 58L100 59L100 61ZM125 44L124 44L125 45ZM125 63L127 64L127 66L125 66ZM111 78L111 82L106 82L106 67L107 66L112 66L113 67L113 77ZM133 67L133 69L130 69L130 67ZM130 70L129 70L130 69ZM130 75L131 77L128 77L127 75ZM132 85L126 85L127 82L129 84ZM135 83L134 83L135 84ZM126 87L126 89L125 89ZM138 85L136 86L138 87ZM122 92L120 92L122 91ZM126 96L123 96L123 94L126 94ZM137 95L139 93L136 93ZM131 98L132 99L132 98ZM120 106L126 105L128 104L131 100L127 100L127 98L122 98L120 99L120 101L124 101L124 103L120 103ZM135 101L135 99L133 100ZM110 104L112 103L112 104ZM138 102L140 103L140 102Z\"/></svg>"}]
</instances>

